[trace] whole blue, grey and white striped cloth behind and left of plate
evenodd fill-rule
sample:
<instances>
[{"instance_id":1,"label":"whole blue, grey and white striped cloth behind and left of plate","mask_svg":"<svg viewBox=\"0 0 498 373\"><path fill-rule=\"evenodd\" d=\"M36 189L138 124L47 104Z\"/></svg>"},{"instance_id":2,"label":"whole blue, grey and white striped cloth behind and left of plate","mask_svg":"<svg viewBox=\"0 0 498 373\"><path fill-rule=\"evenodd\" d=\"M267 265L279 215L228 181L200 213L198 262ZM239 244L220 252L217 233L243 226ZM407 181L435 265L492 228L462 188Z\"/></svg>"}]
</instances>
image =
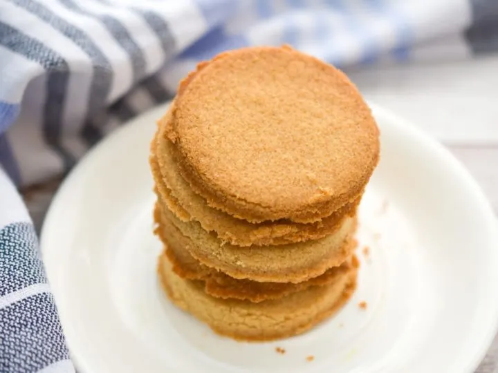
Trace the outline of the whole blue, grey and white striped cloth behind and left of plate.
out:
<instances>
[{"instance_id":1,"label":"whole blue, grey and white striped cloth behind and left of plate","mask_svg":"<svg viewBox=\"0 0 498 373\"><path fill-rule=\"evenodd\" d=\"M498 50L495 0L0 0L0 372L73 372L14 184L67 173L202 60L289 44L339 68ZM10 180L9 180L10 179Z\"/></svg>"}]
</instances>

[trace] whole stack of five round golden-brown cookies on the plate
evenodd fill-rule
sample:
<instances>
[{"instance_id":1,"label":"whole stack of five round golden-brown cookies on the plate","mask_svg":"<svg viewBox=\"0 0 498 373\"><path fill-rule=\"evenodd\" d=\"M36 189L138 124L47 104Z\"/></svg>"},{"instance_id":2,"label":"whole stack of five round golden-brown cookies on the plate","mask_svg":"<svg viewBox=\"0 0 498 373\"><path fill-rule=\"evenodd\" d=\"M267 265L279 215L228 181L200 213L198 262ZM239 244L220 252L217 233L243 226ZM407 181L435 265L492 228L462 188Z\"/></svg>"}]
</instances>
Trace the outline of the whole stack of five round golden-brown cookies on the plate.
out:
<instances>
[{"instance_id":1,"label":"whole stack of five round golden-brown cookies on the plate","mask_svg":"<svg viewBox=\"0 0 498 373\"><path fill-rule=\"evenodd\" d=\"M244 48L181 82L151 143L166 294L215 332L293 336L351 296L378 128L339 70Z\"/></svg>"}]
</instances>

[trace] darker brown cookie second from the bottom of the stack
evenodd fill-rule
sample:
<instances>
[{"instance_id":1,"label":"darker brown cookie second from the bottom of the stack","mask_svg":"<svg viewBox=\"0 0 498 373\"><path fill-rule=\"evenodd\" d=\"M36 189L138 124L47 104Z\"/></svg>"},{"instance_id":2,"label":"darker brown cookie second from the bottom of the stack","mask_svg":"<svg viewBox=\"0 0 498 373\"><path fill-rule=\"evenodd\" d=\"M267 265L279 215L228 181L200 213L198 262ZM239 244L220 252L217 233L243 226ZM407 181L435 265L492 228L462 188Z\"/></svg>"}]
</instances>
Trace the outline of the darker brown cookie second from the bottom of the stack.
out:
<instances>
[{"instance_id":1,"label":"darker brown cookie second from the bottom of the stack","mask_svg":"<svg viewBox=\"0 0 498 373\"><path fill-rule=\"evenodd\" d=\"M261 302L267 299L282 298L288 294L302 291L311 286L323 286L335 281L338 276L348 271L351 263L358 266L356 257L349 258L339 267L327 269L324 274L304 281L303 283L258 283L251 280L237 280L224 274L221 271L203 265L196 260L185 249L189 244L188 238L183 236L182 240L167 240L165 252L172 263L173 271L181 278L188 280L201 280L204 284L204 291L215 298L234 298L250 300L251 302ZM356 247L356 242L351 242Z\"/></svg>"}]
</instances>

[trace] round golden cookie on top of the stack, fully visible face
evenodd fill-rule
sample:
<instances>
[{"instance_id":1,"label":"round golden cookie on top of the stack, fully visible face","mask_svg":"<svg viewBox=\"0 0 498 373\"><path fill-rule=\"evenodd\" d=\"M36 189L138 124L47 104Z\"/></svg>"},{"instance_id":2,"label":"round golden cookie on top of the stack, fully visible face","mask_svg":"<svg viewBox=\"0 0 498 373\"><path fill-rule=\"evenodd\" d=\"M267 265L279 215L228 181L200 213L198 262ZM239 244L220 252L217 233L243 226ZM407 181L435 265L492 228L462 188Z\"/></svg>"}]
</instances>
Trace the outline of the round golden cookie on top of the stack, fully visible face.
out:
<instances>
[{"instance_id":1,"label":"round golden cookie on top of the stack, fully visible face","mask_svg":"<svg viewBox=\"0 0 498 373\"><path fill-rule=\"evenodd\" d=\"M200 64L172 116L167 136L183 178L250 222L329 216L362 193L378 162L378 128L355 86L288 47Z\"/></svg>"}]
</instances>

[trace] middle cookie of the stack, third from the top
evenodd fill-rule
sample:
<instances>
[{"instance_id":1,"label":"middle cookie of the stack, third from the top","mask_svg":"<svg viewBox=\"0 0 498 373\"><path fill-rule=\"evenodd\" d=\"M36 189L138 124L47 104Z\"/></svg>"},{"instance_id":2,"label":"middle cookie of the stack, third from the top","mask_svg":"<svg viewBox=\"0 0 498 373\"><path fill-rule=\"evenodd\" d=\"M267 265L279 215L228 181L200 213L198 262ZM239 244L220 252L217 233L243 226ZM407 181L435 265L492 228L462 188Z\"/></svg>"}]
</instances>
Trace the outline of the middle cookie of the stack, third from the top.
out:
<instances>
[{"instance_id":1,"label":"middle cookie of the stack, third from the top","mask_svg":"<svg viewBox=\"0 0 498 373\"><path fill-rule=\"evenodd\" d=\"M320 240L237 247L224 244L198 222L179 220L160 202L156 203L154 219L158 223L156 233L165 244L185 247L203 265L232 278L273 283L301 283L341 265L353 252L351 240L356 230L356 218L346 217L336 233ZM189 239L188 243L180 242L183 237Z\"/></svg>"}]
</instances>

